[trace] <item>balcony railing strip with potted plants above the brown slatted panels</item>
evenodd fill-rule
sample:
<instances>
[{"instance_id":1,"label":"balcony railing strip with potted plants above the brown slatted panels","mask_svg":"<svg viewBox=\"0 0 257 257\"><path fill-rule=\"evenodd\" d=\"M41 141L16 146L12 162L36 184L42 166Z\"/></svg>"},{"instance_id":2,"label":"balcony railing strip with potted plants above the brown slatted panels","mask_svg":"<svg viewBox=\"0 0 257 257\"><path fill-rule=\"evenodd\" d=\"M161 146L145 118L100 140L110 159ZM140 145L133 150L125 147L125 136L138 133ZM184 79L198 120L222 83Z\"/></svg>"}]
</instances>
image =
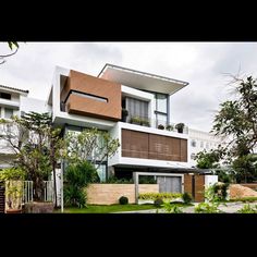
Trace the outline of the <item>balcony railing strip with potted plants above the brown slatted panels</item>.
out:
<instances>
[{"instance_id":1,"label":"balcony railing strip with potted plants above the brown slatted panels","mask_svg":"<svg viewBox=\"0 0 257 257\"><path fill-rule=\"evenodd\" d=\"M149 119L145 117L130 117L130 115L126 117L126 119L123 119L122 121L140 126L148 126L170 132L188 134L188 127L186 125L184 126L181 125L182 123L170 123L163 120Z\"/></svg>"}]
</instances>

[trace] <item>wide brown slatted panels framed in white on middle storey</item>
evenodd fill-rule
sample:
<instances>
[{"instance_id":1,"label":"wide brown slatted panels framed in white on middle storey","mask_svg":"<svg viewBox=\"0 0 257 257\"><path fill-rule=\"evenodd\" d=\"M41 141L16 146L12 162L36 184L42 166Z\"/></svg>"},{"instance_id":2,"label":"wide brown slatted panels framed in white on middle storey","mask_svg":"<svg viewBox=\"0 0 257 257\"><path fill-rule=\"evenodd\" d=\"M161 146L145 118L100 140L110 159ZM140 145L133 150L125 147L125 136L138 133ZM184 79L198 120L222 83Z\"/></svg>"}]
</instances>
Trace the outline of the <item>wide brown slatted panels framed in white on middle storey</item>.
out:
<instances>
[{"instance_id":1,"label":"wide brown slatted panels framed in white on middle storey","mask_svg":"<svg viewBox=\"0 0 257 257\"><path fill-rule=\"evenodd\" d=\"M122 156L186 162L187 142L181 138L122 130Z\"/></svg>"}]
</instances>

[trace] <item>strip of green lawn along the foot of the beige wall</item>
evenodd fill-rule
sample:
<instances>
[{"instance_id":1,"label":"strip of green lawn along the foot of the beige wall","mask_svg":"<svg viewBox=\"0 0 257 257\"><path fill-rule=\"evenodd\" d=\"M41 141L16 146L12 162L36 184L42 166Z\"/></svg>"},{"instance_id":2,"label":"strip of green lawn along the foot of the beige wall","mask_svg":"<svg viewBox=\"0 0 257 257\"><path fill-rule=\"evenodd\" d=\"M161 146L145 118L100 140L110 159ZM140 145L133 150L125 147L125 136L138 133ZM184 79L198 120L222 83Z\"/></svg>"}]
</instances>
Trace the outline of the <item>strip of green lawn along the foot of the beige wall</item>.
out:
<instances>
[{"instance_id":1,"label":"strip of green lawn along the foot of the beige wall","mask_svg":"<svg viewBox=\"0 0 257 257\"><path fill-rule=\"evenodd\" d=\"M117 211L156 209L154 205L88 205L87 208L65 208L64 213L111 213ZM60 212L60 210L58 210Z\"/></svg>"}]
</instances>

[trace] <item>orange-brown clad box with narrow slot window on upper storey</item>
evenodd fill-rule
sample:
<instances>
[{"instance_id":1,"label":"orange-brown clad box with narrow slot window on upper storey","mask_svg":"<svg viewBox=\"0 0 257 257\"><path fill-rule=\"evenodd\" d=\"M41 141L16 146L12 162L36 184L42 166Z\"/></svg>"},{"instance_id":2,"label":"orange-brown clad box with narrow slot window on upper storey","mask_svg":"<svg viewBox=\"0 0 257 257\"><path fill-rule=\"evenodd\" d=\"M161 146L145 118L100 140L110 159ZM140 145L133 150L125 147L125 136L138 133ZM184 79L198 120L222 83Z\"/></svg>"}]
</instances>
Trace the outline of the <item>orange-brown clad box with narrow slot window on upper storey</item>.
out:
<instances>
[{"instance_id":1,"label":"orange-brown clad box with narrow slot window on upper storey","mask_svg":"<svg viewBox=\"0 0 257 257\"><path fill-rule=\"evenodd\" d=\"M69 96L71 90L107 98L108 100L102 102L73 94ZM66 111L69 113L107 120L121 119L121 85L118 83L71 71L61 91L61 100L63 101L68 96Z\"/></svg>"}]
</instances>

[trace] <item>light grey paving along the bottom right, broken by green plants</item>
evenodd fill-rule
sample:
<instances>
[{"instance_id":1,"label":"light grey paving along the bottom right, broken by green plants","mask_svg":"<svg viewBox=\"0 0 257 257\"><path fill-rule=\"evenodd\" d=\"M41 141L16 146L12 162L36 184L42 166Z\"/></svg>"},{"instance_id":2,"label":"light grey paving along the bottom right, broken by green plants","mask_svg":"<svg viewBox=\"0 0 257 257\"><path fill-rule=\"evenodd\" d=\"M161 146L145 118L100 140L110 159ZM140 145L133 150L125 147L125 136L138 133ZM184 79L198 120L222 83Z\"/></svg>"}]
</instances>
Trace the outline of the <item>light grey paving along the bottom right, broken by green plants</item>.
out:
<instances>
[{"instance_id":1,"label":"light grey paving along the bottom right, broken by green plants","mask_svg":"<svg viewBox=\"0 0 257 257\"><path fill-rule=\"evenodd\" d=\"M197 204L195 204L197 205ZM225 205L220 205L219 209L224 211L225 213L235 213L237 210L244 207L243 203L228 203ZM257 205L257 203L250 203L250 206ZM189 206L183 208L184 213L194 213L195 206ZM157 213L157 209L151 209L151 210L136 210L136 211L121 211L121 212L115 212L115 213ZM164 213L164 210L159 209L158 213Z\"/></svg>"}]
</instances>

